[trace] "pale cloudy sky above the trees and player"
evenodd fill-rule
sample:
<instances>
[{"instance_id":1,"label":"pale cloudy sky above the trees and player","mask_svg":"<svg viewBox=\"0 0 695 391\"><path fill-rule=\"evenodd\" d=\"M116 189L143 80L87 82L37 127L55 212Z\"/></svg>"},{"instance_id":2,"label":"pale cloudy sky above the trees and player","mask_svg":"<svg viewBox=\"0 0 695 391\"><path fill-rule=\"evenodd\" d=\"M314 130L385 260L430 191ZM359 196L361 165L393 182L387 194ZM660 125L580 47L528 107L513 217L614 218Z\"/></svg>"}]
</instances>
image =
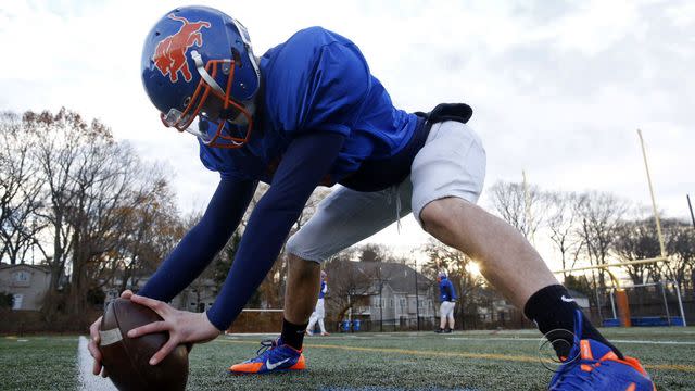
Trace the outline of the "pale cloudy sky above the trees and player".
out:
<instances>
[{"instance_id":1,"label":"pale cloudy sky above the trees and player","mask_svg":"<svg viewBox=\"0 0 695 391\"><path fill-rule=\"evenodd\" d=\"M242 21L256 53L321 25L353 39L395 104L473 106L488 151L486 186L649 195L636 128L659 206L687 216L695 195L695 3L688 1L207 1ZM0 110L99 117L175 174L181 210L217 182L194 140L161 126L139 78L141 45L172 1L8 1L0 10ZM489 201L481 199L483 206ZM410 218L376 241L426 239Z\"/></svg>"}]
</instances>

